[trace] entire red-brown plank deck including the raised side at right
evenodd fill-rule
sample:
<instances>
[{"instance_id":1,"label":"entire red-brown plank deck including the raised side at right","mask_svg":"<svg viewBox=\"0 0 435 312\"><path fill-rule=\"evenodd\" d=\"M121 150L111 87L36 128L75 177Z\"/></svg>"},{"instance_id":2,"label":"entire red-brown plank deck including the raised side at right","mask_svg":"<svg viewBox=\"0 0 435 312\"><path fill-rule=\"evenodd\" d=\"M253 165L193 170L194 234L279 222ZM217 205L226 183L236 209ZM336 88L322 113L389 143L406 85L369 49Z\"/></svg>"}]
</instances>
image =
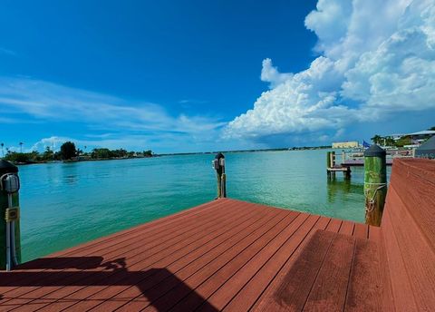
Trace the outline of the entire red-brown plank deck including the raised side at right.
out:
<instances>
[{"instance_id":1,"label":"entire red-brown plank deck including the raised side at right","mask_svg":"<svg viewBox=\"0 0 435 312\"><path fill-rule=\"evenodd\" d=\"M0 273L0 311L435 308L435 161L395 161L382 227L220 199Z\"/></svg>"}]
</instances>

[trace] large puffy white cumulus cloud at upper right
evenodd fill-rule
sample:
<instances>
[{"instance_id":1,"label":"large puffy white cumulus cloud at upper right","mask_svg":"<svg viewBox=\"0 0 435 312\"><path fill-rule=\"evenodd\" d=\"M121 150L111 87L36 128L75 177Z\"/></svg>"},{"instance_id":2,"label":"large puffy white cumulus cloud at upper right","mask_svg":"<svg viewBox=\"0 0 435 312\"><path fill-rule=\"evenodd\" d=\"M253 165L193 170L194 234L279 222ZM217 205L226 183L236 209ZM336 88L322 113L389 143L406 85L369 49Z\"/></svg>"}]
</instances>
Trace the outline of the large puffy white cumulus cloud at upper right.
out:
<instances>
[{"instance_id":1,"label":"large puffy white cumulus cloud at upper right","mask_svg":"<svg viewBox=\"0 0 435 312\"><path fill-rule=\"evenodd\" d=\"M261 80L270 90L228 123L227 138L309 133L322 141L355 123L433 113L433 0L319 0L304 23L320 55L299 73L280 73L264 60Z\"/></svg>"}]
</instances>

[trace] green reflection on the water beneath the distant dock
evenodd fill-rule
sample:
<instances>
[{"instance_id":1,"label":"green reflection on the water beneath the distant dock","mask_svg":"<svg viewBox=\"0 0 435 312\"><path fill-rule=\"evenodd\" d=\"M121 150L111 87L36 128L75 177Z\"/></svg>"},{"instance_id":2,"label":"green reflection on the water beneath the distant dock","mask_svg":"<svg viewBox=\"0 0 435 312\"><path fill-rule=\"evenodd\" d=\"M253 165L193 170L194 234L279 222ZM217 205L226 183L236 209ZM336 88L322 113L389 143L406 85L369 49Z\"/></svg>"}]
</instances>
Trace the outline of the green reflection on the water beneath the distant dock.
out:
<instances>
[{"instance_id":1,"label":"green reflection on the water beneath the distant dock","mask_svg":"<svg viewBox=\"0 0 435 312\"><path fill-rule=\"evenodd\" d=\"M326 183L328 202L351 202L354 200L353 194L363 194L364 186L362 183L355 183L352 179L338 180L328 179Z\"/></svg>"}]
</instances>

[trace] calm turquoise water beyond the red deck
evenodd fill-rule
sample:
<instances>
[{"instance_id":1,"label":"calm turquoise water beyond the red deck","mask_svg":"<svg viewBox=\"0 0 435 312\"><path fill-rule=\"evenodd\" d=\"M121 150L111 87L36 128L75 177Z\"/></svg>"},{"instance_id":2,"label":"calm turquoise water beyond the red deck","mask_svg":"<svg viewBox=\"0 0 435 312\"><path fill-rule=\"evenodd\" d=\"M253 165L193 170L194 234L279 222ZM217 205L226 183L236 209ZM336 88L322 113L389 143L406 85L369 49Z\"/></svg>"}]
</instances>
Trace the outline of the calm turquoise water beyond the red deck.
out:
<instances>
[{"instance_id":1,"label":"calm turquoise water beyond the red deck","mask_svg":"<svg viewBox=\"0 0 435 312\"><path fill-rule=\"evenodd\" d=\"M326 151L227 153L227 195L363 220L363 168L328 182ZM131 228L216 197L214 155L20 167L24 261Z\"/></svg>"}]
</instances>

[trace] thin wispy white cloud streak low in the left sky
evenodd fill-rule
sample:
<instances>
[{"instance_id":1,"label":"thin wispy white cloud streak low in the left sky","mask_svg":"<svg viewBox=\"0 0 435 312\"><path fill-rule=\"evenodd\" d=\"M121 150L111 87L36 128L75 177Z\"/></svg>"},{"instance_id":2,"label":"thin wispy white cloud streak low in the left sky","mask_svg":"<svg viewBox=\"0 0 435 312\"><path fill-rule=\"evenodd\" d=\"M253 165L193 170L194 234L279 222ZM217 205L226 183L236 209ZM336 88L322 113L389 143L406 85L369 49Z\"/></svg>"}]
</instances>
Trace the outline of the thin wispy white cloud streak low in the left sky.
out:
<instances>
[{"instance_id":1,"label":"thin wispy white cloud streak low in the left sky","mask_svg":"<svg viewBox=\"0 0 435 312\"><path fill-rule=\"evenodd\" d=\"M25 114L32 119L0 118L0 122L64 122L84 125L88 134L43 138L27 145L24 151L43 151L46 147L59 149L64 141L81 146L130 148L160 146L175 151L181 141L189 146L206 144L209 133L218 132L226 122L216 117L171 115L156 103L129 102L117 96L49 83L26 77L0 77L0 104L9 115ZM48 128L48 127L47 127ZM92 134L100 133L100 134ZM9 146L10 151L20 151Z\"/></svg>"}]
</instances>

